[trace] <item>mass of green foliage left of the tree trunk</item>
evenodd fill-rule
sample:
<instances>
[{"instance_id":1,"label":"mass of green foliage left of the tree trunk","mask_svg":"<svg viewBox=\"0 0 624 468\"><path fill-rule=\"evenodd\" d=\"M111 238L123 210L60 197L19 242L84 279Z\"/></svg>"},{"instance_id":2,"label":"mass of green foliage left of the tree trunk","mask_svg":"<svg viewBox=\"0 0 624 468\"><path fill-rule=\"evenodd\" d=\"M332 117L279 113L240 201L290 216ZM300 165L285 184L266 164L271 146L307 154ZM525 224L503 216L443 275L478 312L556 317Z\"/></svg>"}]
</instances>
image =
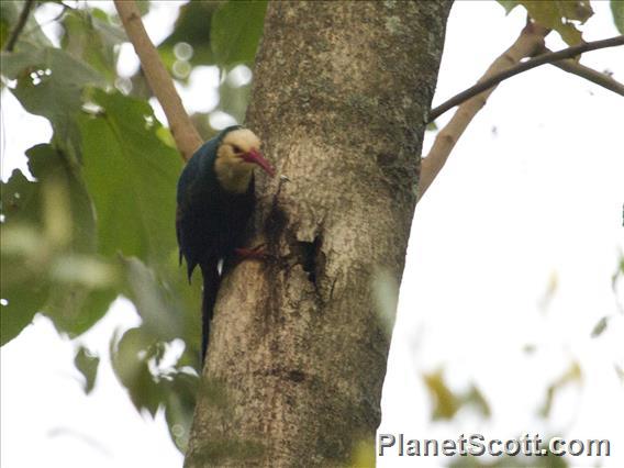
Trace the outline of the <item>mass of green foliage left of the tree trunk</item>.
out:
<instances>
[{"instance_id":1,"label":"mass of green foliage left of the tree trunk","mask_svg":"<svg viewBox=\"0 0 624 468\"><path fill-rule=\"evenodd\" d=\"M1 48L23 4L0 2ZM147 13L149 2L141 4ZM176 183L182 160L147 102L142 74L130 87L118 74L126 36L116 15L78 7L37 2L35 10L58 12L52 20L59 26L57 41L31 14L13 52L1 53L2 92L45 118L53 137L26 152L30 174L14 170L1 183L0 344L18 337L35 314L49 317L75 341L75 365L90 392L100 358L80 335L116 298L130 299L142 322L111 336L113 369L137 410L152 415L165 410L183 449L198 383L201 291L200 281L189 287L178 267ZM248 83L233 80L231 71L252 64L265 10L264 1L189 2L159 46L182 82L190 74L177 70L219 67L218 109L238 121ZM213 132L205 126L204 136Z\"/></svg>"}]
</instances>

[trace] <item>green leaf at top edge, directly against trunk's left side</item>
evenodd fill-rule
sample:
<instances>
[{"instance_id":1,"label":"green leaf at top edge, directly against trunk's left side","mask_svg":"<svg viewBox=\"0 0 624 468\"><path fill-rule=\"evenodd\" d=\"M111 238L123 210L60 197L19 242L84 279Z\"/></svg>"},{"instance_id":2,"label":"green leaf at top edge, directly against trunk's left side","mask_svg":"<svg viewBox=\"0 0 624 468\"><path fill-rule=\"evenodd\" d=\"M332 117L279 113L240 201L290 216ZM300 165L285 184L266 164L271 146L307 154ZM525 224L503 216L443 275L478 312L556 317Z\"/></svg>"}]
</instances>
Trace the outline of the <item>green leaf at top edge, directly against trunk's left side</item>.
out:
<instances>
[{"instance_id":1,"label":"green leaf at top edge, directly against trunk's left side","mask_svg":"<svg viewBox=\"0 0 624 468\"><path fill-rule=\"evenodd\" d=\"M231 68L254 62L266 11L266 1L229 1L214 12L211 44L220 66Z\"/></svg>"}]
</instances>

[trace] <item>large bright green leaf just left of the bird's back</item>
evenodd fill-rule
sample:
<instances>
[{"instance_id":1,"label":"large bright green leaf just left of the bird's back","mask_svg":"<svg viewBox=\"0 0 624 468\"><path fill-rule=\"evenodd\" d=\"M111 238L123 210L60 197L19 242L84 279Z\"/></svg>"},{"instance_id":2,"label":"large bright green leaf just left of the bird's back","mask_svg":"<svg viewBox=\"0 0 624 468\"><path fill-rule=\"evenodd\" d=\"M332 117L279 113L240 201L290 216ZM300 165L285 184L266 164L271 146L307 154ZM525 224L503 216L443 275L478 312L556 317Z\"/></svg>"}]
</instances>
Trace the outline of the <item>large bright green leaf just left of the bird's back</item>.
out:
<instances>
[{"instance_id":1,"label":"large bright green leaf just left of the bird's back","mask_svg":"<svg viewBox=\"0 0 624 468\"><path fill-rule=\"evenodd\" d=\"M176 248L178 153L157 136L160 124L144 101L94 90L98 116L80 120L83 174L98 215L99 250L144 263Z\"/></svg>"}]
</instances>

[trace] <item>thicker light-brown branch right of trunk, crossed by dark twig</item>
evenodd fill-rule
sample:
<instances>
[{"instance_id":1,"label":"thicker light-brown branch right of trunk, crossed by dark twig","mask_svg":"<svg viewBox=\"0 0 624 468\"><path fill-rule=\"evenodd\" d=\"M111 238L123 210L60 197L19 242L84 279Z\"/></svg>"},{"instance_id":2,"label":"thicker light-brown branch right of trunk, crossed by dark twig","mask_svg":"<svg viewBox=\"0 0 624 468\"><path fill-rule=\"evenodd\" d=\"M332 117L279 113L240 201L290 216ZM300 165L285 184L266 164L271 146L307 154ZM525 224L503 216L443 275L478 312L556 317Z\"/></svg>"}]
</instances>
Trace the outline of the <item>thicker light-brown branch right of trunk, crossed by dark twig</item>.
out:
<instances>
[{"instance_id":1,"label":"thicker light-brown branch right of trunk, crossed by dark twig","mask_svg":"<svg viewBox=\"0 0 624 468\"><path fill-rule=\"evenodd\" d=\"M527 23L513 45L498 57L492 65L490 65L490 68L488 68L486 74L479 79L477 86L483 82L491 82L492 77L495 78L501 76L504 70L515 69L515 65L519 64L521 59L524 57L531 57L535 55L536 52L543 49L544 37L548 34L548 32L549 30L539 26L538 24ZM465 97L463 100L457 101L457 103L461 104L446 126L437 134L427 157L423 158L421 161L421 178L419 181L417 193L419 201L446 164L448 155L455 147L455 144L468 124L472 121L477 112L486 105L486 102L495 89L495 86L497 83L490 83L484 87L480 93L478 92L476 96L472 94L470 98ZM466 91L461 94L466 94ZM457 103L454 105L457 105ZM437 113L436 116L439 115L439 113ZM435 119L435 116L433 119Z\"/></svg>"}]
</instances>

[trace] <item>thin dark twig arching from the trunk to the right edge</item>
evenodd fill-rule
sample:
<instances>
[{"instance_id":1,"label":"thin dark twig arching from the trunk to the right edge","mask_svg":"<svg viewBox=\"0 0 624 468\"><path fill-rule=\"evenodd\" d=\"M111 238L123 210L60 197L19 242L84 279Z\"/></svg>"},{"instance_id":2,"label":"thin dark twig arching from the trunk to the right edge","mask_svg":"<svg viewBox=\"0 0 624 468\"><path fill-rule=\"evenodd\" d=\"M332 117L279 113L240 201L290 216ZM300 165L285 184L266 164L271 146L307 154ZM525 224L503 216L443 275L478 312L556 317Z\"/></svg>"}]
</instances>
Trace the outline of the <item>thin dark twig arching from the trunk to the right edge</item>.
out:
<instances>
[{"instance_id":1,"label":"thin dark twig arching from the trunk to the right edge","mask_svg":"<svg viewBox=\"0 0 624 468\"><path fill-rule=\"evenodd\" d=\"M431 111L427 123L433 122L435 119L437 119L439 115L442 115L449 109L453 109L454 107L467 101L473 96L477 96L480 92L483 92L484 90L493 86L497 86L501 81L511 78L517 74L538 67L539 65L551 64L554 62L561 60L564 58L575 57L579 54L582 54L583 52L590 52L605 47L616 47L620 45L624 45L624 35L602 41L586 42L584 44L575 45L572 47L564 48L562 51L543 54L530 60L517 64L515 67L509 68L495 76L492 76L483 81L478 82L477 85L468 88L467 90L461 91L459 94L450 98L445 103L438 105L437 108Z\"/></svg>"}]
</instances>

